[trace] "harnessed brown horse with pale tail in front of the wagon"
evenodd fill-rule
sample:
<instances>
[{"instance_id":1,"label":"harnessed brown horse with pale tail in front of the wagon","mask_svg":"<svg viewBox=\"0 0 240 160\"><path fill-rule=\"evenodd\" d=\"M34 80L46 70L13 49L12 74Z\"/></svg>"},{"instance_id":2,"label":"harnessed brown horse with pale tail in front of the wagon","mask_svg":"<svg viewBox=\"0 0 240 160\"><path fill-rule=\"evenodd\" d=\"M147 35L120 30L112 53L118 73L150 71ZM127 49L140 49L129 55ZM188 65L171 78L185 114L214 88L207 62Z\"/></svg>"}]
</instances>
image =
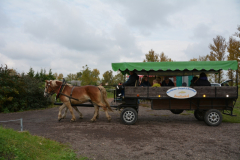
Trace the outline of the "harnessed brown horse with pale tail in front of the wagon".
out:
<instances>
[{"instance_id":1,"label":"harnessed brown horse with pale tail in front of the wagon","mask_svg":"<svg viewBox=\"0 0 240 160\"><path fill-rule=\"evenodd\" d=\"M99 107L102 107L105 111L107 119L110 121L111 116L108 114L108 110L112 111L109 103L107 102L107 93L104 87L102 86L72 86L66 84L63 86L61 93L60 87L62 86L61 81L50 80L45 83L44 96L49 96L54 93L59 94L59 99L63 102L63 105L59 108L58 120L66 116L67 108L69 109L72 119L71 121L76 121L75 115L73 113L72 107L79 113L80 118L82 118L82 113L77 109L76 106L71 104L81 104L84 102L91 101L94 106L94 115L91 121L96 121L99 115ZM66 108L67 107L67 108ZM64 116L61 115L62 109L66 108Z\"/></svg>"}]
</instances>

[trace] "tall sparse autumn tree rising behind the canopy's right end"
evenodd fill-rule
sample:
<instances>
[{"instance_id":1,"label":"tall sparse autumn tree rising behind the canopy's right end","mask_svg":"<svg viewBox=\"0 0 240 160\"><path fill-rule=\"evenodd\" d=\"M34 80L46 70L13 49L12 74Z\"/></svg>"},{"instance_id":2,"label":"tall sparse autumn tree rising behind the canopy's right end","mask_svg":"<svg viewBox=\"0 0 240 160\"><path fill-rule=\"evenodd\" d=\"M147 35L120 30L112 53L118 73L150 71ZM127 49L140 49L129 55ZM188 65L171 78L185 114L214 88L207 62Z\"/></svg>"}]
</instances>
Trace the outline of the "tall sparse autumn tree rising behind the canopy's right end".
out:
<instances>
[{"instance_id":1,"label":"tall sparse autumn tree rising behind the canopy's right end","mask_svg":"<svg viewBox=\"0 0 240 160\"><path fill-rule=\"evenodd\" d=\"M216 38L213 38L213 43L209 45L209 49L211 50L209 58L216 61L224 61L225 50L227 48L225 38L218 35ZM218 81L220 83L223 78L223 72L220 71L219 75L215 75L214 78L215 82Z\"/></svg>"}]
</instances>

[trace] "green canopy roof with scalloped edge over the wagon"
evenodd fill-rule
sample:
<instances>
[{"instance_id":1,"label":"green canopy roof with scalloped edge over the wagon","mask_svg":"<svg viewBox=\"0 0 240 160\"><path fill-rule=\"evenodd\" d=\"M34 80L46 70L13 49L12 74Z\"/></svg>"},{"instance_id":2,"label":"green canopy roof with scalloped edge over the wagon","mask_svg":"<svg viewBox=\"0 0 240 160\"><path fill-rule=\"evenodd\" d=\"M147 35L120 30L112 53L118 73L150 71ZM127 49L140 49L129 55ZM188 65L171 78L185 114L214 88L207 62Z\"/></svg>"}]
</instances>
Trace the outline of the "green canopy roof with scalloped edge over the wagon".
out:
<instances>
[{"instance_id":1,"label":"green canopy roof with scalloped edge over the wagon","mask_svg":"<svg viewBox=\"0 0 240 160\"><path fill-rule=\"evenodd\" d=\"M114 71L121 71L123 74L128 71L140 72L158 72L169 74L170 72L216 72L220 70L237 70L237 61L186 61L186 62L123 62L112 63ZM166 73L168 72L168 73ZM185 75L189 75L185 74ZM173 73L171 73L173 75ZM182 75L182 73L181 73Z\"/></svg>"}]
</instances>

